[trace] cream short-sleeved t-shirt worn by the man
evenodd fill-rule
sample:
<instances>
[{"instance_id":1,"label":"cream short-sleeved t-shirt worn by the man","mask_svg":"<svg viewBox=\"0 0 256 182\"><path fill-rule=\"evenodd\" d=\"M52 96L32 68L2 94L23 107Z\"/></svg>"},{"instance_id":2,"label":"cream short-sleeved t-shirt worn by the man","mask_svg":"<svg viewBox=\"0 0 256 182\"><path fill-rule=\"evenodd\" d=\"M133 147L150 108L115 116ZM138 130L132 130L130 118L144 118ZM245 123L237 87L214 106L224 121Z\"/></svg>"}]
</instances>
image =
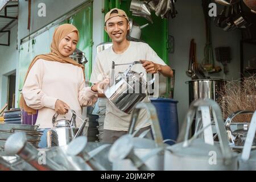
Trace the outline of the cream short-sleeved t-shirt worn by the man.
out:
<instances>
[{"instance_id":1,"label":"cream short-sleeved t-shirt worn by the man","mask_svg":"<svg viewBox=\"0 0 256 182\"><path fill-rule=\"evenodd\" d=\"M139 60L148 60L157 64L166 65L166 63L160 59L160 57L150 46L148 46L148 44L142 42L130 42L129 47L121 54L115 53L112 47L98 53L92 75L90 77L90 82L97 83L98 81L101 81L103 74L110 76L112 61L114 61L115 64L126 64ZM128 65L115 66L115 76L117 76L118 72L124 72L127 68ZM131 70L137 73L143 72L144 76L146 77L146 70L142 67L142 64L135 64ZM144 100L142 100L142 102L150 102L150 100L148 97L146 97ZM130 125L130 119L131 114L126 114L109 101L107 102L104 129L127 131ZM141 125L141 123L145 120L148 120L148 115L146 113L146 109L142 109L139 113L135 129L137 129L137 126ZM149 125L150 123L147 122L143 127Z\"/></svg>"}]
</instances>

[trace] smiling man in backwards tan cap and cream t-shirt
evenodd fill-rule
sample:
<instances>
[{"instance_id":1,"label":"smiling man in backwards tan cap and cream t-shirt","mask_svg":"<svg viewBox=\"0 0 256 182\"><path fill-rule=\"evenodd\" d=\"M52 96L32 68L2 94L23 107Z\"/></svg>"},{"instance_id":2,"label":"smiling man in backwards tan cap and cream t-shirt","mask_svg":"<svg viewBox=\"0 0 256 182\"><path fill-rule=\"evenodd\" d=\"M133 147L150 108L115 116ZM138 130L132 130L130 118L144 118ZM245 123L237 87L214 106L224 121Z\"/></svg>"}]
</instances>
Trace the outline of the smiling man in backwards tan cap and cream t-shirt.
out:
<instances>
[{"instance_id":1,"label":"smiling man in backwards tan cap and cream t-shirt","mask_svg":"<svg viewBox=\"0 0 256 182\"><path fill-rule=\"evenodd\" d=\"M127 31L130 30L129 18L125 11L112 9L105 15L105 31L112 39L113 46L101 51L96 56L96 62L93 67L90 82L97 83L104 79L104 76L110 76L112 61L115 64L127 64L134 61L141 61L143 64L135 64L132 71L137 73L162 73L163 76L172 77L172 69L164 63L155 51L142 42L131 42L126 39ZM157 40L156 40L157 41ZM118 72L124 72L127 65L115 67L115 75ZM104 75L102 77L102 75ZM99 97L105 97L104 94L98 94ZM148 97L142 102L150 102ZM119 137L127 133L131 119L131 114L123 113L109 101L106 104L106 115L104 121L103 142L114 142ZM148 121L148 115L145 109L139 113L135 130L141 123ZM150 129L150 123L146 122L137 134Z\"/></svg>"}]
</instances>

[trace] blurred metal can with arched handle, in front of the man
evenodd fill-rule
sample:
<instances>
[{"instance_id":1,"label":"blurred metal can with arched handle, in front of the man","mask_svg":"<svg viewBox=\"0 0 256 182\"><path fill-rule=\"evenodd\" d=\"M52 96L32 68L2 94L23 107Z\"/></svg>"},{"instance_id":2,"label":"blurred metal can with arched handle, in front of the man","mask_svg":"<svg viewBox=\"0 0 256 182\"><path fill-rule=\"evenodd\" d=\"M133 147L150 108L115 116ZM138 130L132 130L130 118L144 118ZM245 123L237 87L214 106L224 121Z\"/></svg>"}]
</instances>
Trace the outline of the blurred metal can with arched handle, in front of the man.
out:
<instances>
[{"instance_id":1,"label":"blurred metal can with arched handle, in front of the man","mask_svg":"<svg viewBox=\"0 0 256 182\"><path fill-rule=\"evenodd\" d=\"M133 137L144 126L142 123L133 132L141 109L146 109L150 116L150 121L147 122L151 123L154 140ZM119 138L110 148L109 160L113 163L113 170L163 170L164 143L154 105L141 102L135 107L128 133ZM141 136L143 135L142 133Z\"/></svg>"}]
</instances>

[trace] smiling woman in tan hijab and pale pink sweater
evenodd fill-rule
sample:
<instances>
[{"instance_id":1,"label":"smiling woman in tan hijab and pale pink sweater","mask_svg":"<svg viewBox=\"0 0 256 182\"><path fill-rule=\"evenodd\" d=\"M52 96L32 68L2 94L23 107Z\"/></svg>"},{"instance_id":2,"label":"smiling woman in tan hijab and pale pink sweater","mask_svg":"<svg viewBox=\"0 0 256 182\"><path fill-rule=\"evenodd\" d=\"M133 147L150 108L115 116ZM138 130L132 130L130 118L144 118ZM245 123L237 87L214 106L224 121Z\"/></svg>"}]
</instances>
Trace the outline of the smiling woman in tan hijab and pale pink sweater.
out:
<instances>
[{"instance_id":1,"label":"smiling woman in tan hijab and pale pink sweater","mask_svg":"<svg viewBox=\"0 0 256 182\"><path fill-rule=\"evenodd\" d=\"M25 77L20 107L28 114L38 110L36 124L44 130L53 127L52 117L71 119L69 109L81 116L81 106L96 103L98 89L104 89L108 80L96 86L85 87L84 67L69 56L75 51L79 31L72 24L62 24L55 29L51 52L38 55L32 60ZM77 126L81 121L76 119ZM46 147L46 136L39 147Z\"/></svg>"}]
</instances>

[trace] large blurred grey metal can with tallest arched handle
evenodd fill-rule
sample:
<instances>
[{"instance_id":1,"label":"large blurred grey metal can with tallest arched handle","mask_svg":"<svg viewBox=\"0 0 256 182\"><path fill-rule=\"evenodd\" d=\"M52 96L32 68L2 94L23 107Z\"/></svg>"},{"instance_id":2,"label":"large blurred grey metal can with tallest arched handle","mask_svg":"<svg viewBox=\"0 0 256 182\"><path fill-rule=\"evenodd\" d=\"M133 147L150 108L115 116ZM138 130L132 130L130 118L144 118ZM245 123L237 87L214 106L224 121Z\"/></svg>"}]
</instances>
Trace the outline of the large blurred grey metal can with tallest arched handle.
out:
<instances>
[{"instance_id":1,"label":"large blurred grey metal can with tallest arched handle","mask_svg":"<svg viewBox=\"0 0 256 182\"><path fill-rule=\"evenodd\" d=\"M208 126L204 126L191 139L188 139L189 129L195 113L202 106L212 108L213 121L220 141L217 144L209 144L204 139L197 138L201 132L211 127L210 121L208 121ZM164 159L165 170L237 170L237 154L230 151L221 110L216 102L213 100L193 101L182 129L177 139L178 143L167 147ZM213 135L211 137L213 140Z\"/></svg>"}]
</instances>

